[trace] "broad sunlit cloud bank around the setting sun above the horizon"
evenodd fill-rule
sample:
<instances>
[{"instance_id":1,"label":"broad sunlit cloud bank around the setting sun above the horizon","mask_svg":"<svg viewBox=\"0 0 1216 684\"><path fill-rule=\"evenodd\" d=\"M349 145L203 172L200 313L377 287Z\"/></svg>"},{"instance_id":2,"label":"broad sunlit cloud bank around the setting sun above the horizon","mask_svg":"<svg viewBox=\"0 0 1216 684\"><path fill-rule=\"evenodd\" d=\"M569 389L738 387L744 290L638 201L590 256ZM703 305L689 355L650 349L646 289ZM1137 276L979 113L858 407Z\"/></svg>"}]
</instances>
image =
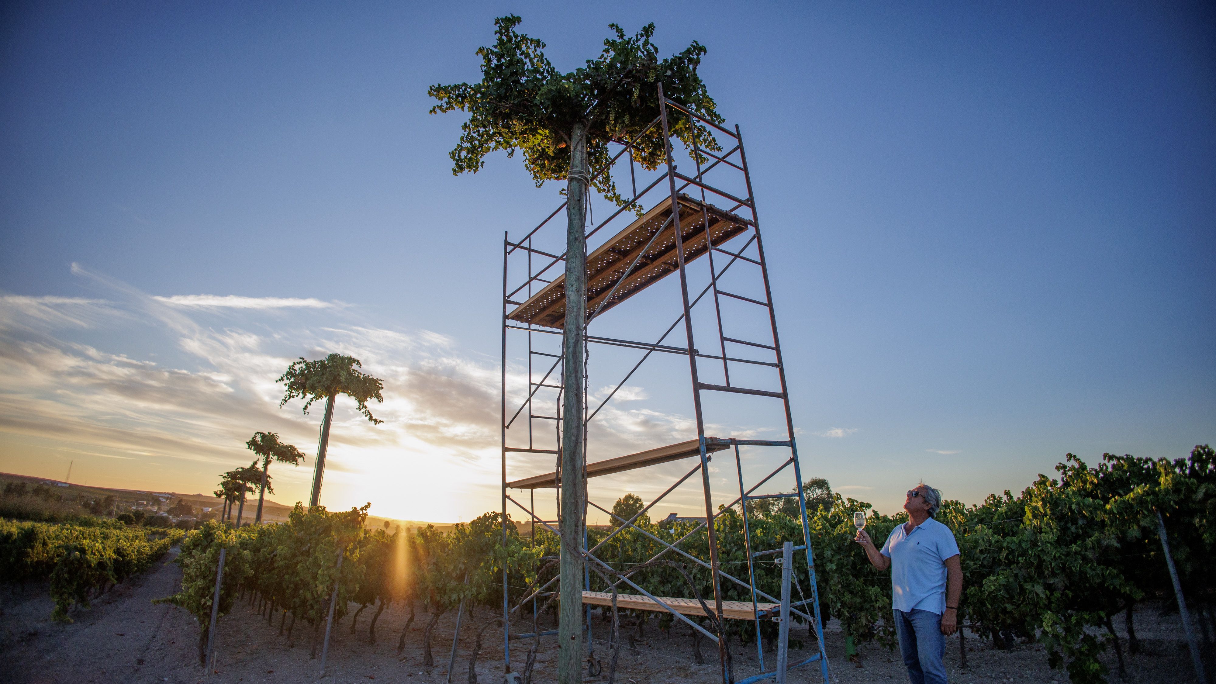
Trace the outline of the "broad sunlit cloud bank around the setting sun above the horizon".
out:
<instances>
[{"instance_id":1,"label":"broad sunlit cloud bank around the setting sun above the horizon","mask_svg":"<svg viewBox=\"0 0 1216 684\"><path fill-rule=\"evenodd\" d=\"M371 408L385 422L373 426L353 402L337 403L326 465L332 475L322 494L327 505L370 499L402 511L399 516L446 520L477 515L496 500L496 359L460 349L435 332L360 325L358 312L343 312L339 319L338 310L347 308L342 303L156 297L80 264L72 273L96 298L0 296L0 460L5 452L22 462L75 458L79 470L84 458L84 467L113 473L116 486L209 492L215 473L249 462L244 441L253 431L274 431L310 456L305 467L276 472L276 497L303 499L320 415L316 407L304 415L299 400L280 408L283 388L275 379L298 357L336 352L361 359L366 372L384 381L384 402ZM270 308L283 309L272 326L261 316L249 323L250 313ZM223 323L204 325L204 315ZM108 332L92 336L92 330ZM137 337L139 351L113 348L114 331L119 338ZM518 407L527 398L527 368L508 363L506 376L508 404ZM595 394L607 397L612 389ZM691 416L648 399L642 387L621 387L589 425L589 458L696 437ZM527 413L508 431L508 443L552 448L552 422L534 421L529 434ZM552 414L553 407L536 407L535 413ZM711 424L706 431L749 438L770 428ZM855 430L838 432L843 437ZM90 459L97 465L89 466ZM167 467L151 475L157 465ZM508 476L553 466L552 455L523 454ZM668 475L686 469L683 462L665 464L612 476L610 483L597 481L597 487L654 494ZM402 477L416 484L406 499L400 495ZM428 482L454 484L422 484Z\"/></svg>"}]
</instances>

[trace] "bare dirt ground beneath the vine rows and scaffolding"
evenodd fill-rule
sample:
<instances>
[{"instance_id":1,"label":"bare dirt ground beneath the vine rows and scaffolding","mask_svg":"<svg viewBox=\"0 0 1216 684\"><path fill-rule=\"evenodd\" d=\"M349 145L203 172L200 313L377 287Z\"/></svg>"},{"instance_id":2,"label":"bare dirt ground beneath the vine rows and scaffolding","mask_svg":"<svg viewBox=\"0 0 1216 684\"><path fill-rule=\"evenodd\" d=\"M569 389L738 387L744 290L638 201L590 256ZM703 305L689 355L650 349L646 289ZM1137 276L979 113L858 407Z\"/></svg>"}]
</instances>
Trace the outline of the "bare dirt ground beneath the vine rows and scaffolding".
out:
<instances>
[{"instance_id":1,"label":"bare dirt ground beneath the vine rows and scaffolding","mask_svg":"<svg viewBox=\"0 0 1216 684\"><path fill-rule=\"evenodd\" d=\"M203 683L203 669L198 666L198 627L184 610L152 604L152 599L174 593L181 573L171 565L174 554L157 564L142 577L119 585L94 601L92 609L77 609L72 624L55 624L50 621L51 601L46 587L30 585L26 593L0 595L0 682L12 684L90 684L153 682ZM451 647L455 615L444 616L435 628L432 640L435 665L424 667L422 634L426 613L418 612L406 635L405 650L396 652L398 637L406 622L404 606L389 606L377 624L377 644L367 638L370 613L364 611L356 630L350 633L348 616L334 629L330 644L330 656L323 678L327 683L354 682L405 682L444 683L447 680L447 662ZM491 616L478 611L466 616L457 650L452 682L468 682L468 662L477 630ZM671 683L688 684L717 682L716 651L708 640L702 643L705 665L692 661L691 632L677 627L669 638L654 627L646 628L637 639L636 647L623 647L618 662L617 682L621 684ZM551 626L542 626L551 627ZM593 622L596 637L606 634L604 623ZM1122 621L1116 629L1122 633ZM623 626L623 634L627 632ZM1155 607L1145 607L1136 613L1136 630L1144 645L1144 652L1127 656L1128 683L1183 684L1194 682L1189 656L1181 633L1177 615L1160 616ZM294 630L294 646L286 637L278 635L278 618L268 626L254 609L238 605L232 615L220 621L216 672L207 679L215 683L265 682L299 683L320 680L320 658L309 657L311 632L305 624ZM501 634L491 627L477 666L477 680L500 684L502 675ZM906 671L897 654L882 646L861 647L861 667L845 661L844 638L838 627L824 629L827 650L832 666L832 682L839 684L873 684L907 682ZM806 639L806 630L798 628L795 637ZM970 634L968 634L970 637ZM996 650L984 641L969 638L967 660L970 666L959 666L957 638L948 641L946 665L950 680L955 683L1051 683L1068 682L1062 671L1047 667L1047 657L1041 646L1024 645L1014 650ZM743 647L731 644L738 678L759 673L755 646ZM512 663L523 667L527 645L512 643ZM610 654L606 643L597 640L596 655L604 663L598 677L587 682L607 682ZM803 649L790 654L796 661L811 655ZM771 669L775 654L765 655ZM1115 674L1113 652L1105 656L1110 667L1111 683L1119 683ZM553 637L545 637L536 657L534 682L556 680L557 649ZM789 678L795 683L821 682L817 665L794 671Z\"/></svg>"}]
</instances>

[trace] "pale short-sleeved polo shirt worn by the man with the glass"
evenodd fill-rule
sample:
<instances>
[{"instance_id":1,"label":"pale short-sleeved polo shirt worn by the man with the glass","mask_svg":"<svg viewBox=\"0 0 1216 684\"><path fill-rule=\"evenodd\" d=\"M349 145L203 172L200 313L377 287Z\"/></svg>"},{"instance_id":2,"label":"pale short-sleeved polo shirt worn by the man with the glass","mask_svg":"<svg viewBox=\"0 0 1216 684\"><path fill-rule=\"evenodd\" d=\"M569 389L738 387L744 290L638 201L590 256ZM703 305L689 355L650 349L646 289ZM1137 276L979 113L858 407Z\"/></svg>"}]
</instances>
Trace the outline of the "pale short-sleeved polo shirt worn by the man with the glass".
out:
<instances>
[{"instance_id":1,"label":"pale short-sleeved polo shirt worn by the man with the glass","mask_svg":"<svg viewBox=\"0 0 1216 684\"><path fill-rule=\"evenodd\" d=\"M946 559L958 555L948 527L931 517L903 532L899 525L883 544L891 559L891 607L911 612L946 612Z\"/></svg>"}]
</instances>

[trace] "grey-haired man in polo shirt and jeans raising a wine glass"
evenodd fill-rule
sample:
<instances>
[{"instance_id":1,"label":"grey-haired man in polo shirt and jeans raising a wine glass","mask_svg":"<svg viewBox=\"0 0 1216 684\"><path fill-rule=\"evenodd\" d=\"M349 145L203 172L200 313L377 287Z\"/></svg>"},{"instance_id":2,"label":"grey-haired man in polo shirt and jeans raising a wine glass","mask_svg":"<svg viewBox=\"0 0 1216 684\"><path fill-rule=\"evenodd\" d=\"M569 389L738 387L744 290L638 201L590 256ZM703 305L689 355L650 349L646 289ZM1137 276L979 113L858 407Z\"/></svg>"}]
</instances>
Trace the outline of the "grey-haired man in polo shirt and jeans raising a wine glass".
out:
<instances>
[{"instance_id":1,"label":"grey-haired man in polo shirt and jeans raising a wine glass","mask_svg":"<svg viewBox=\"0 0 1216 684\"><path fill-rule=\"evenodd\" d=\"M891 607L900 654L912 684L946 684L946 637L958 630L958 599L963 568L955 534L933 520L941 492L921 483L903 501L908 521L895 529L879 551L865 529L856 542L878 570L891 568Z\"/></svg>"}]
</instances>

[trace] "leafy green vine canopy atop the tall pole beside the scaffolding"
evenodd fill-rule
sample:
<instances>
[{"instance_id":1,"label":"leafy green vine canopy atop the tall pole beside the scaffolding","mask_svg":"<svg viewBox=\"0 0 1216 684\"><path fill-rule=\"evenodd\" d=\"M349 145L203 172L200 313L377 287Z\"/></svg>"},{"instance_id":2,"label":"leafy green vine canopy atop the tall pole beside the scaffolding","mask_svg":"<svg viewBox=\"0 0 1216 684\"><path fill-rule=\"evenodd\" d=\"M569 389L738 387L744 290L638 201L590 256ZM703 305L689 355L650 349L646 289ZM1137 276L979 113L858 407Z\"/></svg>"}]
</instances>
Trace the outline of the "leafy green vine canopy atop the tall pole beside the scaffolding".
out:
<instances>
[{"instance_id":1,"label":"leafy green vine canopy atop the tall pole beside the scaffolding","mask_svg":"<svg viewBox=\"0 0 1216 684\"><path fill-rule=\"evenodd\" d=\"M660 60L651 41L653 23L632 37L608 24L615 37L604 40L599 56L587 60L585 67L561 73L545 57L541 40L516 30L522 21L513 15L494 21L497 40L477 51L480 82L438 84L427 90L439 101L430 113L460 110L469 114L450 155L452 174L477 173L490 152L503 150L513 156L519 150L537 187L546 180L563 180L570 166L572 130L581 123L586 127L591 185L624 204L612 176L595 174L608 167L609 142L627 142L658 118L660 83L668 97L706 119L722 122L697 74L705 47L696 40L682 52ZM668 127L685 145L692 145L696 135L700 146L720 150L703 127L674 113L668 113ZM664 144L662 127L654 127L637 141L634 158L643 168L655 169L666 158Z\"/></svg>"}]
</instances>

